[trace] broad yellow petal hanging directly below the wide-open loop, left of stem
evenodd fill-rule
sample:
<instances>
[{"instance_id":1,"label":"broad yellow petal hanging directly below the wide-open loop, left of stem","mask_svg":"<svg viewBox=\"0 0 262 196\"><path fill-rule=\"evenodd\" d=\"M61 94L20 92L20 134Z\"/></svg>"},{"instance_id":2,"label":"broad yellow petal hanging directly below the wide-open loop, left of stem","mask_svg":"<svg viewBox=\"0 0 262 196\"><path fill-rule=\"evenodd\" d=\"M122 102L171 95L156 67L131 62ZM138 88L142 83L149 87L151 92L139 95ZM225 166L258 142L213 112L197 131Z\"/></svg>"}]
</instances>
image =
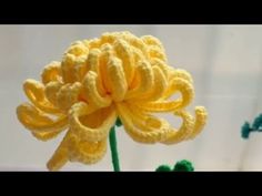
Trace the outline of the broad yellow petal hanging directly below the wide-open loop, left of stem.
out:
<instances>
[{"instance_id":1,"label":"broad yellow petal hanging directly below the wide-open loop, left of stem","mask_svg":"<svg viewBox=\"0 0 262 196\"><path fill-rule=\"evenodd\" d=\"M81 141L79 137L71 137L69 145L69 159L83 164L99 162L107 152L107 140L100 142Z\"/></svg>"}]
</instances>

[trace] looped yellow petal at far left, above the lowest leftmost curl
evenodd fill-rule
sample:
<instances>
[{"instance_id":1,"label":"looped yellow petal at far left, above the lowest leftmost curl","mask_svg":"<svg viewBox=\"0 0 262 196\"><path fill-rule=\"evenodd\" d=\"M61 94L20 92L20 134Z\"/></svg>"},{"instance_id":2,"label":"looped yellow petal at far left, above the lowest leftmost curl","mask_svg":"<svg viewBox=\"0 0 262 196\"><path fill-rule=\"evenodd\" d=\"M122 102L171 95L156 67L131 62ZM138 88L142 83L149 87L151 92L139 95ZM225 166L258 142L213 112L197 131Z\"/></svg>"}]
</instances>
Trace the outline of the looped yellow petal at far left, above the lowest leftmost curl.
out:
<instances>
[{"instance_id":1,"label":"looped yellow petal at far left, above the lowest leftmost curl","mask_svg":"<svg viewBox=\"0 0 262 196\"><path fill-rule=\"evenodd\" d=\"M23 91L28 99L40 110L47 113L60 113L59 109L56 109L44 95L44 86L38 81L26 80L23 83Z\"/></svg>"}]
</instances>

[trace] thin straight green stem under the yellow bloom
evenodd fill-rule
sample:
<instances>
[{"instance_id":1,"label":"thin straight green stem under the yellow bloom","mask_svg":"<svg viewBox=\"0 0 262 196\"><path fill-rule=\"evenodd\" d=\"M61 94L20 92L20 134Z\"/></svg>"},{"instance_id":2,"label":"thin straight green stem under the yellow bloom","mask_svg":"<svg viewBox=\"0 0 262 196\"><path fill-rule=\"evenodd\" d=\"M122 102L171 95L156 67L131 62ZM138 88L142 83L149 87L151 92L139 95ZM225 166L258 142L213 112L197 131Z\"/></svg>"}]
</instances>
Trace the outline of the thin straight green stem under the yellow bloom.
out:
<instances>
[{"instance_id":1,"label":"thin straight green stem under the yellow bloom","mask_svg":"<svg viewBox=\"0 0 262 196\"><path fill-rule=\"evenodd\" d=\"M115 136L114 126L112 126L110 130L109 142L110 142L111 157L112 157L112 163L113 163L113 171L120 172L118 145L117 145L117 136Z\"/></svg>"}]
</instances>

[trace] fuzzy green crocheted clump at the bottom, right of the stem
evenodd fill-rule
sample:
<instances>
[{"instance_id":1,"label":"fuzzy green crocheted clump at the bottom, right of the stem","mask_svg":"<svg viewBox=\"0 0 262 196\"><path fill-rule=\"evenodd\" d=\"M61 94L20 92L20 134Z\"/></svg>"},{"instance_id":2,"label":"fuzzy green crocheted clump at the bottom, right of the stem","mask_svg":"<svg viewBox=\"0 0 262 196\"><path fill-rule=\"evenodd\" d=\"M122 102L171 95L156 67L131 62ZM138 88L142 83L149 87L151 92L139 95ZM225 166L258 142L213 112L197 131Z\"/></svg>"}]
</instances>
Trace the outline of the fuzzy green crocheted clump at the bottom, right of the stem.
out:
<instances>
[{"instance_id":1,"label":"fuzzy green crocheted clump at the bottom, right of the stem","mask_svg":"<svg viewBox=\"0 0 262 196\"><path fill-rule=\"evenodd\" d=\"M177 162L173 169L169 165L160 165L155 172L193 172L194 167L191 162L182 159Z\"/></svg>"}]
</instances>

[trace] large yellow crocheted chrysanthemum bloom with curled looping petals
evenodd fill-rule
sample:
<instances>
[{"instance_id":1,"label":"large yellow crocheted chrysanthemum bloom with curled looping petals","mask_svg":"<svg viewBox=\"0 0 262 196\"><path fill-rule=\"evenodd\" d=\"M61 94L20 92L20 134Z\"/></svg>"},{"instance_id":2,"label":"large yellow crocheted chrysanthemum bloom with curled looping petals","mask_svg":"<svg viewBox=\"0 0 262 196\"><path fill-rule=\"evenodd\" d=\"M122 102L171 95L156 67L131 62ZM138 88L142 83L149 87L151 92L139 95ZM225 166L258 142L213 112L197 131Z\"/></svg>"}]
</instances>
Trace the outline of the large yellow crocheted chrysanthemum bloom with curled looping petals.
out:
<instances>
[{"instance_id":1,"label":"large yellow crocheted chrysanthemum bloom with curled looping petals","mask_svg":"<svg viewBox=\"0 0 262 196\"><path fill-rule=\"evenodd\" d=\"M49 161L57 171L68 161L93 164L105 154L110 127L119 117L135 142L175 144L193 138L206 121L204 107L195 117L185 111L194 96L191 75L168 64L164 48L151 35L104 33L72 43L61 62L51 62L41 82L27 80L31 104L18 106L19 121L38 140L66 136ZM181 97L172 100L174 93ZM182 117L172 128L155 113Z\"/></svg>"}]
</instances>

